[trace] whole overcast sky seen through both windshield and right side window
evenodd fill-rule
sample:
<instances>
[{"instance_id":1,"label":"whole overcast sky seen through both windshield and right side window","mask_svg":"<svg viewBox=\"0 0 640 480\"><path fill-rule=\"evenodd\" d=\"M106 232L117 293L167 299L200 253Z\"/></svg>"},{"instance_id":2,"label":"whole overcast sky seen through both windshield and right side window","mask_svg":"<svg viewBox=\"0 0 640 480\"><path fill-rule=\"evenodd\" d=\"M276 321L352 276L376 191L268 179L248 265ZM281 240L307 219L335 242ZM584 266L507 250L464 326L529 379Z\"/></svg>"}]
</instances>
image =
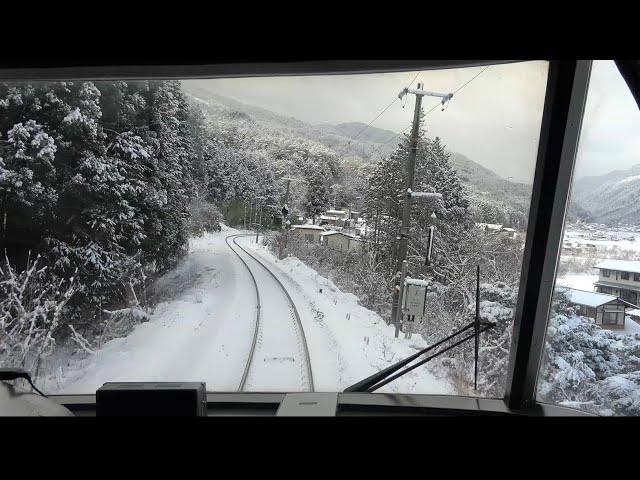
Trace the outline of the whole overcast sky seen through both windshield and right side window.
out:
<instances>
[{"instance_id":1,"label":"whole overcast sky seen through both windshield and right side window","mask_svg":"<svg viewBox=\"0 0 640 480\"><path fill-rule=\"evenodd\" d=\"M453 92L484 67L419 72L424 89ZM198 81L220 95L306 122L369 123L418 72L373 75L235 78ZM533 180L547 63L492 65L427 117L430 136L514 181ZM576 166L576 177L640 163L640 114L613 62L598 61ZM399 132L411 123L414 96L393 104L373 126ZM425 97L425 111L438 103Z\"/></svg>"}]
</instances>

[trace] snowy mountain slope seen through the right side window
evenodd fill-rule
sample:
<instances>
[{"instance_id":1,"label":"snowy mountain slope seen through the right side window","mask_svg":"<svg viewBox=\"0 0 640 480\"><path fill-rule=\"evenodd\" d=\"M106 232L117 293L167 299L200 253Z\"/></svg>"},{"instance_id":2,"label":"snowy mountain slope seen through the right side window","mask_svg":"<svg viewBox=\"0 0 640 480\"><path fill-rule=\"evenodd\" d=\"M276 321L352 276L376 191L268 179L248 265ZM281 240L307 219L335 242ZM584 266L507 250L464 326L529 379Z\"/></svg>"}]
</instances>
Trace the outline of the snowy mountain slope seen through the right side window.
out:
<instances>
[{"instance_id":1,"label":"snowy mountain slope seen through the right side window","mask_svg":"<svg viewBox=\"0 0 640 480\"><path fill-rule=\"evenodd\" d=\"M607 225L637 225L639 200L640 164L576 180L571 189L569 213L574 218Z\"/></svg>"}]
</instances>

